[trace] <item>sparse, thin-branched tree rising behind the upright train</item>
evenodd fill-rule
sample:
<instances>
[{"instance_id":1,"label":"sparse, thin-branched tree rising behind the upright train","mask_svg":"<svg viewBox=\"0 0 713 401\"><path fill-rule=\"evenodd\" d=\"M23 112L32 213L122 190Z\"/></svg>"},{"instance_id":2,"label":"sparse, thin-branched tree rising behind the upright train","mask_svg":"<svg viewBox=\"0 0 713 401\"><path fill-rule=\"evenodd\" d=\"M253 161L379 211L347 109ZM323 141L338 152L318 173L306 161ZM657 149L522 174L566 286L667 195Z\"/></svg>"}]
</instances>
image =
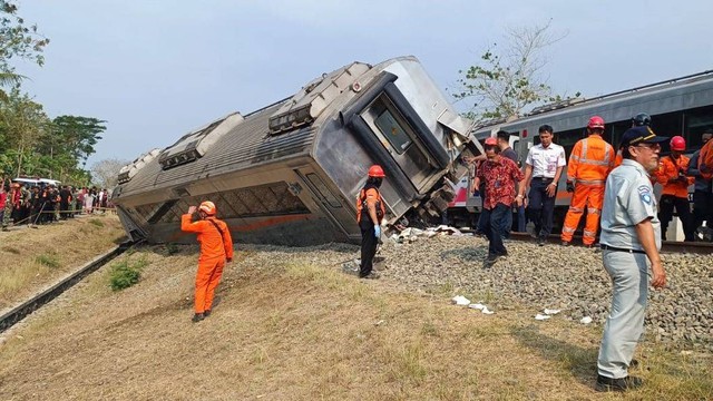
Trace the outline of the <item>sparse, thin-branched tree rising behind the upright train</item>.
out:
<instances>
[{"instance_id":1,"label":"sparse, thin-branched tree rising behind the upright train","mask_svg":"<svg viewBox=\"0 0 713 401\"><path fill-rule=\"evenodd\" d=\"M555 95L541 74L547 65L544 50L566 36L555 36L550 27L551 20L510 29L505 48L494 43L480 56L478 65L458 71L463 76L458 79L453 97L472 101L467 117L477 121L518 117L528 106L569 98Z\"/></svg>"}]
</instances>

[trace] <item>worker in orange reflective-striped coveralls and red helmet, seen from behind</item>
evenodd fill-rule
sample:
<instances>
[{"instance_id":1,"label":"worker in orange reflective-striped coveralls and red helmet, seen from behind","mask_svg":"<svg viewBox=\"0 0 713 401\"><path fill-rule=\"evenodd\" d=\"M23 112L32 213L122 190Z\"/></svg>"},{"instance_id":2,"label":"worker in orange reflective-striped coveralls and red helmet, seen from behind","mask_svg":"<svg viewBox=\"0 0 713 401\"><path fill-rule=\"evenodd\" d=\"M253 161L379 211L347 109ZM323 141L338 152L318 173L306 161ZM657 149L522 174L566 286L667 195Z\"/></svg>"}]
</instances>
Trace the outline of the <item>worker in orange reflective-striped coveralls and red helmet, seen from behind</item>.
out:
<instances>
[{"instance_id":1,"label":"worker in orange reflective-striped coveralls and red helmet, seen from behind","mask_svg":"<svg viewBox=\"0 0 713 401\"><path fill-rule=\"evenodd\" d=\"M561 244L565 246L572 242L585 206L587 219L582 242L587 247L594 245L604 203L604 185L614 168L615 157L614 147L602 138L603 134L604 119L599 116L589 118L588 136L577 141L569 155L567 192L574 192L574 195L561 229Z\"/></svg>"}]
</instances>

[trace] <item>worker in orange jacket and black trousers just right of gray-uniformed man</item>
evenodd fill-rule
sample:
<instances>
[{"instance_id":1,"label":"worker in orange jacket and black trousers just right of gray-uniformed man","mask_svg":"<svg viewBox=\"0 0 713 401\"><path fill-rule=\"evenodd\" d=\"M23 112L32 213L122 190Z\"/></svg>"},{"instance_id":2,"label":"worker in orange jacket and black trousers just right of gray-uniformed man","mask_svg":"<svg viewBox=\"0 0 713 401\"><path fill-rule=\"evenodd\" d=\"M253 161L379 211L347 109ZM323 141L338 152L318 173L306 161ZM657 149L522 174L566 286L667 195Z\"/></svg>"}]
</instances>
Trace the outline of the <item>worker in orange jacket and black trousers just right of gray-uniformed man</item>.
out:
<instances>
[{"instance_id":1,"label":"worker in orange jacket and black trousers just right of gray-uniformed man","mask_svg":"<svg viewBox=\"0 0 713 401\"><path fill-rule=\"evenodd\" d=\"M693 241L694 229L691 222L691 206L688 205L688 186L695 178L686 176L690 159L683 155L686 141L682 136L671 138L671 155L662 157L656 170L656 180L664 189L661 193L658 219L661 221L661 237L666 241L668 222L673 219L673 209L676 208L685 241Z\"/></svg>"}]
</instances>

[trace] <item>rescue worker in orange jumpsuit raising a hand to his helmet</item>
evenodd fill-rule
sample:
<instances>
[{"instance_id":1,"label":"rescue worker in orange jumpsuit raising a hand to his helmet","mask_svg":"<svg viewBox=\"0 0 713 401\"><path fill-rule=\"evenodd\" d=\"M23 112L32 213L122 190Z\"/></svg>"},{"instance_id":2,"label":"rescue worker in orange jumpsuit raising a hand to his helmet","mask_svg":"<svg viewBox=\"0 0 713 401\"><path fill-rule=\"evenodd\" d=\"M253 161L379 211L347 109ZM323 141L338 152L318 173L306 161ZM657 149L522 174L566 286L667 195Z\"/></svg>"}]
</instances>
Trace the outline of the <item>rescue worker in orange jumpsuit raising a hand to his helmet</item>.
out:
<instances>
[{"instance_id":1,"label":"rescue worker in orange jumpsuit raising a hand to his helmet","mask_svg":"<svg viewBox=\"0 0 713 401\"><path fill-rule=\"evenodd\" d=\"M201 243L201 256L196 273L194 323L211 315L213 295L221 281L221 275L223 275L223 267L226 262L233 261L233 238L227 224L215 217L217 213L215 204L206 200L197 209L199 216L197 222L193 222L196 206L188 207L188 213L180 216L180 229L187 233L197 233L198 243Z\"/></svg>"}]
</instances>

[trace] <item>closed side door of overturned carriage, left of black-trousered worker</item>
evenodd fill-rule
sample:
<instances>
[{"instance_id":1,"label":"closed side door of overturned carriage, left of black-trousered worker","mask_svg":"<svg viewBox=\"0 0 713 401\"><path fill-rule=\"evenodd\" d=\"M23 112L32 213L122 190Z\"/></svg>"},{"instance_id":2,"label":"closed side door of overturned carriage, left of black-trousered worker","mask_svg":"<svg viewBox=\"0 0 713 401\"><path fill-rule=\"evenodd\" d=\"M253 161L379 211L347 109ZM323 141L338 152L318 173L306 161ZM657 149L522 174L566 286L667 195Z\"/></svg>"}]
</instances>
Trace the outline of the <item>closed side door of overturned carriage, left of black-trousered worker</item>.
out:
<instances>
[{"instance_id":1,"label":"closed side door of overturned carriage, left of black-trousered worker","mask_svg":"<svg viewBox=\"0 0 713 401\"><path fill-rule=\"evenodd\" d=\"M332 221L334 226L348 236L360 236L361 231L356 225L356 217L353 208L348 207L341 196L335 195L326 183L311 167L295 169L302 182L310 188L310 193L324 214Z\"/></svg>"}]
</instances>

